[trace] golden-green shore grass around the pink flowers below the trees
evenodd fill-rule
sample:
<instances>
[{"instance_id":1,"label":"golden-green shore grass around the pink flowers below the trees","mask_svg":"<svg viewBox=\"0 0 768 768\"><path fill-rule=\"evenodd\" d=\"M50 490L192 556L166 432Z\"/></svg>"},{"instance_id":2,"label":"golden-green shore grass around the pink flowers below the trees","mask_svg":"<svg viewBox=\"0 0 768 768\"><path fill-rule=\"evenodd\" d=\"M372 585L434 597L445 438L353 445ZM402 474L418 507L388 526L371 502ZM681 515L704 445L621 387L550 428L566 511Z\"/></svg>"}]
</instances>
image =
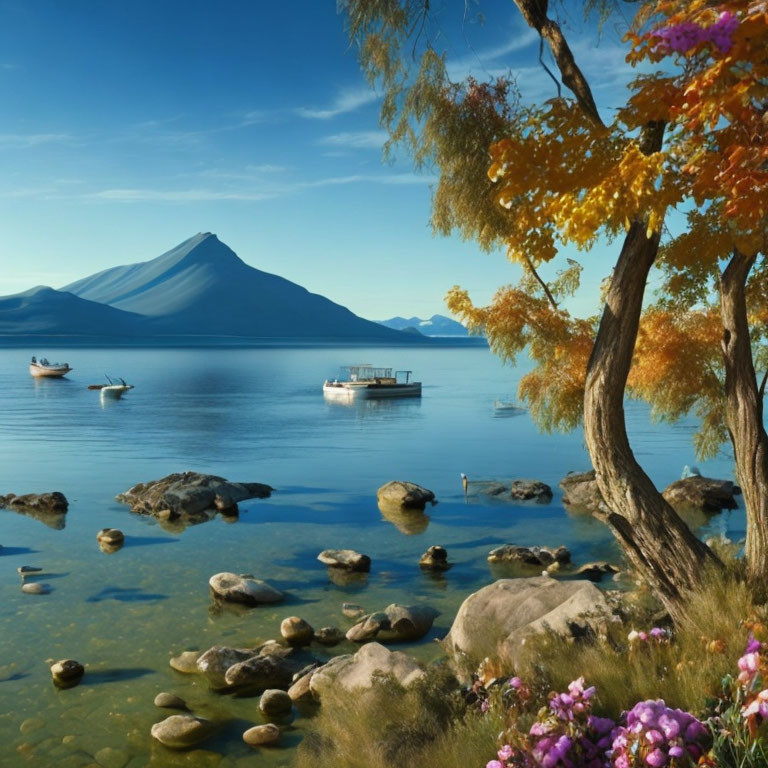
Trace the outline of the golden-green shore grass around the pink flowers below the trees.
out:
<instances>
[{"instance_id":1,"label":"golden-green shore grass around the pink flowers below the trees","mask_svg":"<svg viewBox=\"0 0 768 768\"><path fill-rule=\"evenodd\" d=\"M402 688L382 679L368 692L332 693L323 699L314 731L300 746L298 768L468 768L484 765L506 728L527 732L551 691L563 691L583 676L597 688L596 714L618 719L645 699L664 699L706 717L722 690L722 680L737 672L749 635L746 620L768 626L768 610L756 605L736 576L707 577L691 596L686 618L663 644L630 644L631 629L649 630L651 614L637 609L609 628L606 637L567 641L554 636L530 639L516 669L486 662L489 676L516 674L531 687L530 711L509 712L491 696L485 715L467 706L446 666L428 670L418 684ZM761 639L765 640L763 636ZM758 743L749 754L728 740L715 742L723 768L765 768L768 756Z\"/></svg>"}]
</instances>

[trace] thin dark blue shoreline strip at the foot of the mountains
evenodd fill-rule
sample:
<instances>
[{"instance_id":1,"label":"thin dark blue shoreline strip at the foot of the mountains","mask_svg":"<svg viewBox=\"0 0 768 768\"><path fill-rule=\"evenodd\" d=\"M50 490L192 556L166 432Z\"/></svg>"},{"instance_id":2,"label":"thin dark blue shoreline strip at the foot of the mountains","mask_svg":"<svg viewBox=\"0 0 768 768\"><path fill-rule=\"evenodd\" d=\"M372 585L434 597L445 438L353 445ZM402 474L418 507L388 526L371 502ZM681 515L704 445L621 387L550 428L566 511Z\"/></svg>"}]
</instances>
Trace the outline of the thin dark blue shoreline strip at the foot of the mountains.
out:
<instances>
[{"instance_id":1,"label":"thin dark blue shoreline strip at the foot of the mountains","mask_svg":"<svg viewBox=\"0 0 768 768\"><path fill-rule=\"evenodd\" d=\"M80 347L129 349L257 349L257 348L312 348L312 347L487 347L482 336L423 336L413 339L350 339L350 338L293 338L245 336L168 336L114 338L109 336L50 336L20 334L0 335L0 349L24 347Z\"/></svg>"}]
</instances>

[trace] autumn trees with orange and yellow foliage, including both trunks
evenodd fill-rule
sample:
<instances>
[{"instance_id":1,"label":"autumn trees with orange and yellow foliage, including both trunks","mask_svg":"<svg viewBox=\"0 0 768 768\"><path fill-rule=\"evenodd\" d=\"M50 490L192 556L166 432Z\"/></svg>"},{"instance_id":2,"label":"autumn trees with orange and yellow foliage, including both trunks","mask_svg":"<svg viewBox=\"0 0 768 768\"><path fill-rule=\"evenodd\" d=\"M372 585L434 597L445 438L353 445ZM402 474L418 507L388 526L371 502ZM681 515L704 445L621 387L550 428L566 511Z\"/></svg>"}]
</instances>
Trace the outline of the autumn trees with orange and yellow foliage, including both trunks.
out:
<instances>
[{"instance_id":1,"label":"autumn trees with orange and yellow foliage, including both trunks","mask_svg":"<svg viewBox=\"0 0 768 768\"><path fill-rule=\"evenodd\" d=\"M663 71L639 77L626 107L605 123L546 0L516 5L569 96L558 86L556 98L530 106L509 79L451 82L429 38L427 0L342 3L363 69L385 94L390 145L404 143L417 165L439 171L435 230L457 229L488 249L503 244L524 267L521 284L501 289L490 306L475 307L458 288L449 306L484 329L502 357L527 350L536 368L521 396L542 426L572 427L583 417L606 521L678 610L716 559L636 462L623 399L629 377L630 392L661 416L694 409L702 452L730 436L750 571L768 574L765 378L758 385L753 362L766 319L768 11L748 0L636 4L629 58ZM670 208L685 212L688 227L660 248ZM538 267L563 244L588 251L598 237L621 246L602 317L580 320L562 307L578 265L552 284ZM643 318L635 349L655 264L667 293Z\"/></svg>"}]
</instances>

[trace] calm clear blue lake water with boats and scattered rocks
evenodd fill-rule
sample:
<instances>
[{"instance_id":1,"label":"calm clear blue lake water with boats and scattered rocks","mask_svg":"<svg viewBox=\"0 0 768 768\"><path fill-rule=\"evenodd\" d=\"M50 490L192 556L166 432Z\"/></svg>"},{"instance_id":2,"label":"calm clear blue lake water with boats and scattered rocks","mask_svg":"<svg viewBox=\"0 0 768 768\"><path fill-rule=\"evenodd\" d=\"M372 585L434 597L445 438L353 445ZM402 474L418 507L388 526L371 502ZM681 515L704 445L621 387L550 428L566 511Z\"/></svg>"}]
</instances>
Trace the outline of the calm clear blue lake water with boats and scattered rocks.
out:
<instances>
[{"instance_id":1,"label":"calm clear blue lake water with boats and scattered rocks","mask_svg":"<svg viewBox=\"0 0 768 768\"><path fill-rule=\"evenodd\" d=\"M32 354L68 360L74 370L64 380L33 380ZM413 369L423 397L325 402L322 381L361 360ZM102 404L86 386L104 373L136 388ZM0 510L0 765L290 765L290 748L256 752L241 741L262 722L257 698L212 693L196 676L174 672L169 657L214 644L254 646L278 636L292 614L346 629L340 606L353 600L368 610L435 606L441 616L432 633L405 647L430 659L438 652L431 640L447 632L461 601L506 575L486 562L494 546L565 544L576 563L616 559L606 529L569 515L560 500L559 480L589 467L581 434L542 435L527 414L494 411L495 400L514 396L519 377L484 346L0 350L0 493L59 490L70 501L60 528ZM627 420L635 453L659 487L693 463L693 423L652 425L639 403L628 404ZM732 477L727 455L699 466ZM183 470L276 492L243 502L235 523L217 517L186 529L164 529L114 500L137 482ZM537 478L555 498L465 502L460 472L471 481ZM393 479L432 489L439 503L426 516L383 518L376 489ZM105 527L126 534L117 553L97 545ZM742 536L743 513L723 513L702 533L721 531ZM445 546L454 563L441 578L417 565L432 544ZM367 580L329 581L316 560L329 547L370 555ZM43 567L51 593L21 593L21 565ZM216 610L207 581L219 571L253 573L289 598ZM60 658L87 665L78 687L51 684L45 660ZM151 725L172 714L153 706L163 690L220 724L201 749L174 754L153 743ZM308 722L297 717L284 743L298 743Z\"/></svg>"}]
</instances>

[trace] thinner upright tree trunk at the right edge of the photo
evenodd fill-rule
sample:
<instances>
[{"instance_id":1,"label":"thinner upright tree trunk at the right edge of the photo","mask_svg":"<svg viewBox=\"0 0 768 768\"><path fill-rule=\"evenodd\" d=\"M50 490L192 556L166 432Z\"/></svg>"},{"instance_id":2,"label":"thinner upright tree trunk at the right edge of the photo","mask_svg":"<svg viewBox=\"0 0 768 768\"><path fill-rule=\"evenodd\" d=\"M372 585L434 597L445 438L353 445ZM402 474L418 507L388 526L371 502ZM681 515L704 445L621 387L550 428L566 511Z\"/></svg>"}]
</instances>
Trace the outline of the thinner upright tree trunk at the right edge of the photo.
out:
<instances>
[{"instance_id":1,"label":"thinner upright tree trunk at the right edge of the photo","mask_svg":"<svg viewBox=\"0 0 768 768\"><path fill-rule=\"evenodd\" d=\"M720 278L720 315L725 363L725 419L736 476L747 511L747 568L766 588L768 576L768 434L763 426L763 388L758 388L747 321L746 283L755 256L734 250Z\"/></svg>"}]
</instances>

